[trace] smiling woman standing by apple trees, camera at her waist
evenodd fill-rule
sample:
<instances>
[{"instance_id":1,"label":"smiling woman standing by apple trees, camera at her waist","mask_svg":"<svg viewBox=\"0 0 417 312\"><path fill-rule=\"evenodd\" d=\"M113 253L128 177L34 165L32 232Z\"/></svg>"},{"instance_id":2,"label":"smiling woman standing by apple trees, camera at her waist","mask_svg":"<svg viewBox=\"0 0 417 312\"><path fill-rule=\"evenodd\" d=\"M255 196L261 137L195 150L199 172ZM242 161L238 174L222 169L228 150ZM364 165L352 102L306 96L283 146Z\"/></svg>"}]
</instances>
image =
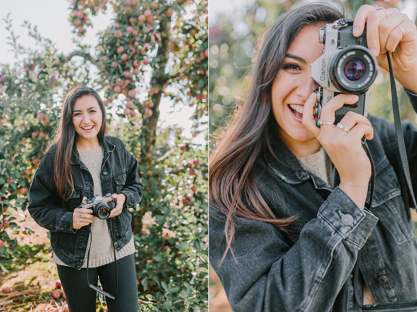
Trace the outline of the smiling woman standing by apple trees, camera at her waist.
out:
<instances>
[{"instance_id":1,"label":"smiling woman standing by apple trees, camera at her waist","mask_svg":"<svg viewBox=\"0 0 417 312\"><path fill-rule=\"evenodd\" d=\"M96 291L88 282L97 287L98 277L105 292L117 295L114 300L106 297L109 311L138 311L127 210L142 196L137 167L123 142L106 135L106 107L98 93L83 85L74 87L65 97L58 131L33 177L28 206L33 219L50 230L53 261L70 312L95 312ZM83 200L107 193L117 199L108 219L79 208Z\"/></svg>"}]
</instances>

